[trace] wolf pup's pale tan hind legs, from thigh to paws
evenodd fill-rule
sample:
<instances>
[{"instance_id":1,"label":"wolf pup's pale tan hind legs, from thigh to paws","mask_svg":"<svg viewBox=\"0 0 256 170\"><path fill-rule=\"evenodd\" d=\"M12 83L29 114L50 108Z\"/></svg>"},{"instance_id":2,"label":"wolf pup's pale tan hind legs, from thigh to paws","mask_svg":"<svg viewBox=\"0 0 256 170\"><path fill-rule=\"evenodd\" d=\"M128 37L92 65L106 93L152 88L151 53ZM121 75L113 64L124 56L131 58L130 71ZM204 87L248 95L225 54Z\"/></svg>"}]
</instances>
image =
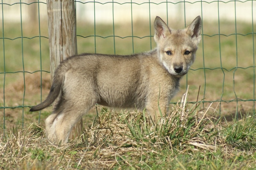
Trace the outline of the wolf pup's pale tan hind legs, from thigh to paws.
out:
<instances>
[{"instance_id":1,"label":"wolf pup's pale tan hind legs, from thigh to paws","mask_svg":"<svg viewBox=\"0 0 256 170\"><path fill-rule=\"evenodd\" d=\"M77 70L68 70L62 87L61 102L53 115L47 118L46 134L53 143L67 143L69 134L82 116L99 99L95 80L91 75L81 74Z\"/></svg>"}]
</instances>

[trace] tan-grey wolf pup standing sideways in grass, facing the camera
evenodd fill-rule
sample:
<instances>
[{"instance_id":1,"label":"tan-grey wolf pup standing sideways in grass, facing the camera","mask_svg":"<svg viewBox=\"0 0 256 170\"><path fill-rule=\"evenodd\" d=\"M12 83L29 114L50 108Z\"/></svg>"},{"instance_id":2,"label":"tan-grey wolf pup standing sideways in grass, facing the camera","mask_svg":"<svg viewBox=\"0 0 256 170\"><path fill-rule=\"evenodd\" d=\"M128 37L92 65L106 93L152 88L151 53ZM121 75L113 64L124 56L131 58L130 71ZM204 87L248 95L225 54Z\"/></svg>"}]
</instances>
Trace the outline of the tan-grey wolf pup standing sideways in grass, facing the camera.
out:
<instances>
[{"instance_id":1,"label":"tan-grey wolf pup standing sideways in grass, facing the camera","mask_svg":"<svg viewBox=\"0 0 256 170\"><path fill-rule=\"evenodd\" d=\"M156 120L168 111L179 81L195 60L201 36L200 16L185 29L173 30L156 17L156 49L130 56L81 54L63 60L46 100L31 112L58 102L46 119L46 137L67 143L76 122L95 104L147 109Z\"/></svg>"}]
</instances>

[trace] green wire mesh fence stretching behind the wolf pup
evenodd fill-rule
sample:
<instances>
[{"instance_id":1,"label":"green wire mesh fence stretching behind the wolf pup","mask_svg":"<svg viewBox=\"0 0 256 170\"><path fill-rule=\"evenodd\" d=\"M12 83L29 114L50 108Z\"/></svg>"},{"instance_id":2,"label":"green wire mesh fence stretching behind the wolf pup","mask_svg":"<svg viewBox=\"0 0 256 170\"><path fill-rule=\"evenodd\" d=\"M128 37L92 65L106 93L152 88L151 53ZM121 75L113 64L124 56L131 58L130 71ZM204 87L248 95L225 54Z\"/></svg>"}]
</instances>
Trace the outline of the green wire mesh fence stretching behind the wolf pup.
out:
<instances>
[{"instance_id":1,"label":"green wire mesh fence stretching behind the wolf pup","mask_svg":"<svg viewBox=\"0 0 256 170\"><path fill-rule=\"evenodd\" d=\"M172 28L183 28L200 15L202 39L196 61L171 102L177 103L189 85L191 104L213 103L223 115L255 113L254 0L75 3L78 53L127 55L151 50L156 16ZM40 122L41 112L28 110L45 99L51 82L46 0L2 0L0 4L0 126L4 132Z\"/></svg>"}]
</instances>

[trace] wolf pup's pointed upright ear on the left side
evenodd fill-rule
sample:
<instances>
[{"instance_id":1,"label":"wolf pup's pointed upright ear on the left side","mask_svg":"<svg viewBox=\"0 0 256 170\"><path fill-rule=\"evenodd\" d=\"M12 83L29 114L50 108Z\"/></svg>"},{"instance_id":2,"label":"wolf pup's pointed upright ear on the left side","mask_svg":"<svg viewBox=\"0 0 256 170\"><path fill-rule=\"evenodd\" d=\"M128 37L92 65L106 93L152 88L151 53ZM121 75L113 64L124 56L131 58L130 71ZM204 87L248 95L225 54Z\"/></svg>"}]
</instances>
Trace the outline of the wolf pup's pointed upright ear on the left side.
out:
<instances>
[{"instance_id":1,"label":"wolf pup's pointed upright ear on the left side","mask_svg":"<svg viewBox=\"0 0 256 170\"><path fill-rule=\"evenodd\" d=\"M156 17L154 22L154 28L155 28L154 40L156 41L156 43L160 39L165 38L167 35L171 34L171 30L160 17Z\"/></svg>"}]
</instances>

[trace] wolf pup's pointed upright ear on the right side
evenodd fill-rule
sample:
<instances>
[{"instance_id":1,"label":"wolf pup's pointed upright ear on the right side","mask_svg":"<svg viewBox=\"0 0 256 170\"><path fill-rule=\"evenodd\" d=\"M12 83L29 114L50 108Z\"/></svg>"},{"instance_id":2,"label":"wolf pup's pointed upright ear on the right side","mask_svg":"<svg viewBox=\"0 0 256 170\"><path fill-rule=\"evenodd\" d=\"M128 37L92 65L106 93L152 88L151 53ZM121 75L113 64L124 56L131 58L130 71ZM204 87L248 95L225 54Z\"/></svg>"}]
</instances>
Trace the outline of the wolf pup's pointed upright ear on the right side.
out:
<instances>
[{"instance_id":1,"label":"wolf pup's pointed upright ear on the right side","mask_svg":"<svg viewBox=\"0 0 256 170\"><path fill-rule=\"evenodd\" d=\"M195 41L197 41L197 43L200 42L201 40L201 27L202 27L202 20L201 17L198 16L196 17L196 19L194 19L194 21L186 28L187 31L186 33L188 35L191 36L191 38Z\"/></svg>"}]
</instances>

